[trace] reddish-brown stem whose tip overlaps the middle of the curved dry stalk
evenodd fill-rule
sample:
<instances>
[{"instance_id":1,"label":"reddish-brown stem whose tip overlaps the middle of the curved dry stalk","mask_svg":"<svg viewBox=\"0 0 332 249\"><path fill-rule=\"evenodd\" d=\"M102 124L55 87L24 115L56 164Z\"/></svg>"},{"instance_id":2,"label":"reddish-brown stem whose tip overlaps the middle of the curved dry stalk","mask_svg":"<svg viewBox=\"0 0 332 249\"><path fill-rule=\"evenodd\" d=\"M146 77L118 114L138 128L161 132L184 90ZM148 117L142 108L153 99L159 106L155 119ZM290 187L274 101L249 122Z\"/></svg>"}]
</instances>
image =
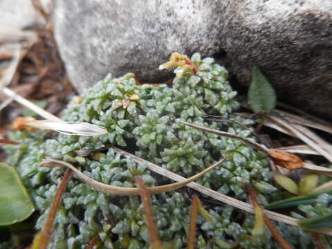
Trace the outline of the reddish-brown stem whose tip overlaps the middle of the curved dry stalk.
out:
<instances>
[{"instance_id":1,"label":"reddish-brown stem whose tip overlaps the middle of the curved dry stalk","mask_svg":"<svg viewBox=\"0 0 332 249\"><path fill-rule=\"evenodd\" d=\"M140 197L144 205L145 217L147 219L147 230L149 230L149 243L152 249L163 249L158 231L156 229L156 223L154 221L154 213L152 212L152 206L150 203L150 194L148 188L145 186L142 178L139 176L136 178L140 190Z\"/></svg>"}]
</instances>

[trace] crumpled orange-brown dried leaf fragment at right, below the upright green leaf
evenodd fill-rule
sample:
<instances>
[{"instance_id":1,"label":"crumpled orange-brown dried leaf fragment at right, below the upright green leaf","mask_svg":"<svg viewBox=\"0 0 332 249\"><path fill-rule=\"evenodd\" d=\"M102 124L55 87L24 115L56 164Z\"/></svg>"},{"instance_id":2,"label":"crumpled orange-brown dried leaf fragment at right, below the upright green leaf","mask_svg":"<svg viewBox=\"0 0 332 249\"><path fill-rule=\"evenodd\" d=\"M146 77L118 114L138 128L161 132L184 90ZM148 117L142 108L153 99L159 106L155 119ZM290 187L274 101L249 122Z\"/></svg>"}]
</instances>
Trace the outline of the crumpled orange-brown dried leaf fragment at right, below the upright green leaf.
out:
<instances>
[{"instance_id":1,"label":"crumpled orange-brown dried leaf fragment at right, below the upright green leaf","mask_svg":"<svg viewBox=\"0 0 332 249\"><path fill-rule=\"evenodd\" d=\"M285 167L286 169L299 169L304 167L304 163L301 158L287 152L269 149L269 156L276 165Z\"/></svg>"}]
</instances>

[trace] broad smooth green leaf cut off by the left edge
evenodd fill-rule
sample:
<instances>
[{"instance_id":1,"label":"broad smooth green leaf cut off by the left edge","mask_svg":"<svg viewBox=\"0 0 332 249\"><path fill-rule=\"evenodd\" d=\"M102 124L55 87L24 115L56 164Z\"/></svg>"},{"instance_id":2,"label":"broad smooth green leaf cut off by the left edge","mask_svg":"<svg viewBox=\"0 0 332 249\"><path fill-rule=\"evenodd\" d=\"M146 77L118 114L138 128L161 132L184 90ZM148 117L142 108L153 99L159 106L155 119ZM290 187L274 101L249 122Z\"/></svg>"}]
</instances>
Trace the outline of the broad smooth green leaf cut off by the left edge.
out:
<instances>
[{"instance_id":1,"label":"broad smooth green leaf cut off by the left edge","mask_svg":"<svg viewBox=\"0 0 332 249\"><path fill-rule=\"evenodd\" d=\"M28 218L35 207L15 169L0 163L0 225L11 225Z\"/></svg>"}]
</instances>

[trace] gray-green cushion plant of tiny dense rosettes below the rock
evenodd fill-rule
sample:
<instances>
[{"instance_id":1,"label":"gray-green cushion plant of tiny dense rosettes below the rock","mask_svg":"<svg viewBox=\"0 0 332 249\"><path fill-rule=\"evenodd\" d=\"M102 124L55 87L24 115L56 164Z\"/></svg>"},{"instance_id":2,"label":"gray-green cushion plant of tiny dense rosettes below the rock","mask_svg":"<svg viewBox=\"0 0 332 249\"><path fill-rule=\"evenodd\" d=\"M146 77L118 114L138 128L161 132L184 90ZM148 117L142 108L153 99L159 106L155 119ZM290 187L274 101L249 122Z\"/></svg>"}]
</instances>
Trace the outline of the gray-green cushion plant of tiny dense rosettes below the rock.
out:
<instances>
[{"instance_id":1,"label":"gray-green cushion plant of tiny dense rosettes below the rock","mask_svg":"<svg viewBox=\"0 0 332 249\"><path fill-rule=\"evenodd\" d=\"M8 163L15 166L40 213L36 228L43 227L50 203L64 173L62 167L40 167L45 158L75 165L95 181L120 187L136 187L140 176L147 187L163 185L167 178L149 172L144 163L111 149L118 145L141 158L190 177L221 158L225 161L198 181L223 194L248 200L250 184L260 194L261 204L280 192L273 184L266 155L245 143L213 133L204 133L175 120L180 119L212 129L228 131L255 140L247 129L232 122L208 122L207 114L232 118L246 126L252 120L232 113L239 104L227 81L228 73L214 59L194 54L172 55L160 68L178 66L172 87L164 84L136 84L133 74L120 78L108 75L80 97L74 98L63 120L88 122L104 127L108 134L93 137L66 136L47 131L17 131L7 145ZM279 194L279 193L277 193ZM322 198L322 197L320 197ZM162 241L173 248L185 248L190 219L190 198L168 192L151 196L156 228ZM328 208L328 207L326 207ZM311 208L302 211L313 212ZM278 248L269 232L252 236L254 216L216 205L197 217L199 248ZM299 214L298 214L299 215ZM308 248L311 238L296 227L279 224L279 232L295 247ZM75 177L62 196L48 248L85 248L94 238L100 248L149 248L144 208L138 196L116 196L93 190ZM2 248L15 248L14 241Z\"/></svg>"}]
</instances>

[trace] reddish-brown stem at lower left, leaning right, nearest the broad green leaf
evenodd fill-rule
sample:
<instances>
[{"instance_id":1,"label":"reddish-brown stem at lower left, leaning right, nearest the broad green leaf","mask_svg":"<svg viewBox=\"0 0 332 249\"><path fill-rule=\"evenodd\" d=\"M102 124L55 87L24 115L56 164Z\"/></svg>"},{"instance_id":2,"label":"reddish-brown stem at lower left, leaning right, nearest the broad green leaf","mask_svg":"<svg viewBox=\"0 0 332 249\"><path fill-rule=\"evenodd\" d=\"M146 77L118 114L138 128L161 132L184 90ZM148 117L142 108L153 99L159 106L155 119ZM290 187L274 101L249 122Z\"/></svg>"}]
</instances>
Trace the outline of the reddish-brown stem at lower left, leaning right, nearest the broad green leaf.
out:
<instances>
[{"instance_id":1,"label":"reddish-brown stem at lower left, leaning right, nearest the broad green leaf","mask_svg":"<svg viewBox=\"0 0 332 249\"><path fill-rule=\"evenodd\" d=\"M46 249L48 246L48 243L50 241L50 234L53 228L53 221L55 219L55 216L57 215L57 210L61 202L62 194L64 194L64 191L66 190L66 185L69 181L69 178L71 177L71 172L71 169L67 169L61 183L59 184L57 194L55 194L55 198L52 202L52 205L50 206L50 212L48 213L47 220L42 231L39 249Z\"/></svg>"}]
</instances>

